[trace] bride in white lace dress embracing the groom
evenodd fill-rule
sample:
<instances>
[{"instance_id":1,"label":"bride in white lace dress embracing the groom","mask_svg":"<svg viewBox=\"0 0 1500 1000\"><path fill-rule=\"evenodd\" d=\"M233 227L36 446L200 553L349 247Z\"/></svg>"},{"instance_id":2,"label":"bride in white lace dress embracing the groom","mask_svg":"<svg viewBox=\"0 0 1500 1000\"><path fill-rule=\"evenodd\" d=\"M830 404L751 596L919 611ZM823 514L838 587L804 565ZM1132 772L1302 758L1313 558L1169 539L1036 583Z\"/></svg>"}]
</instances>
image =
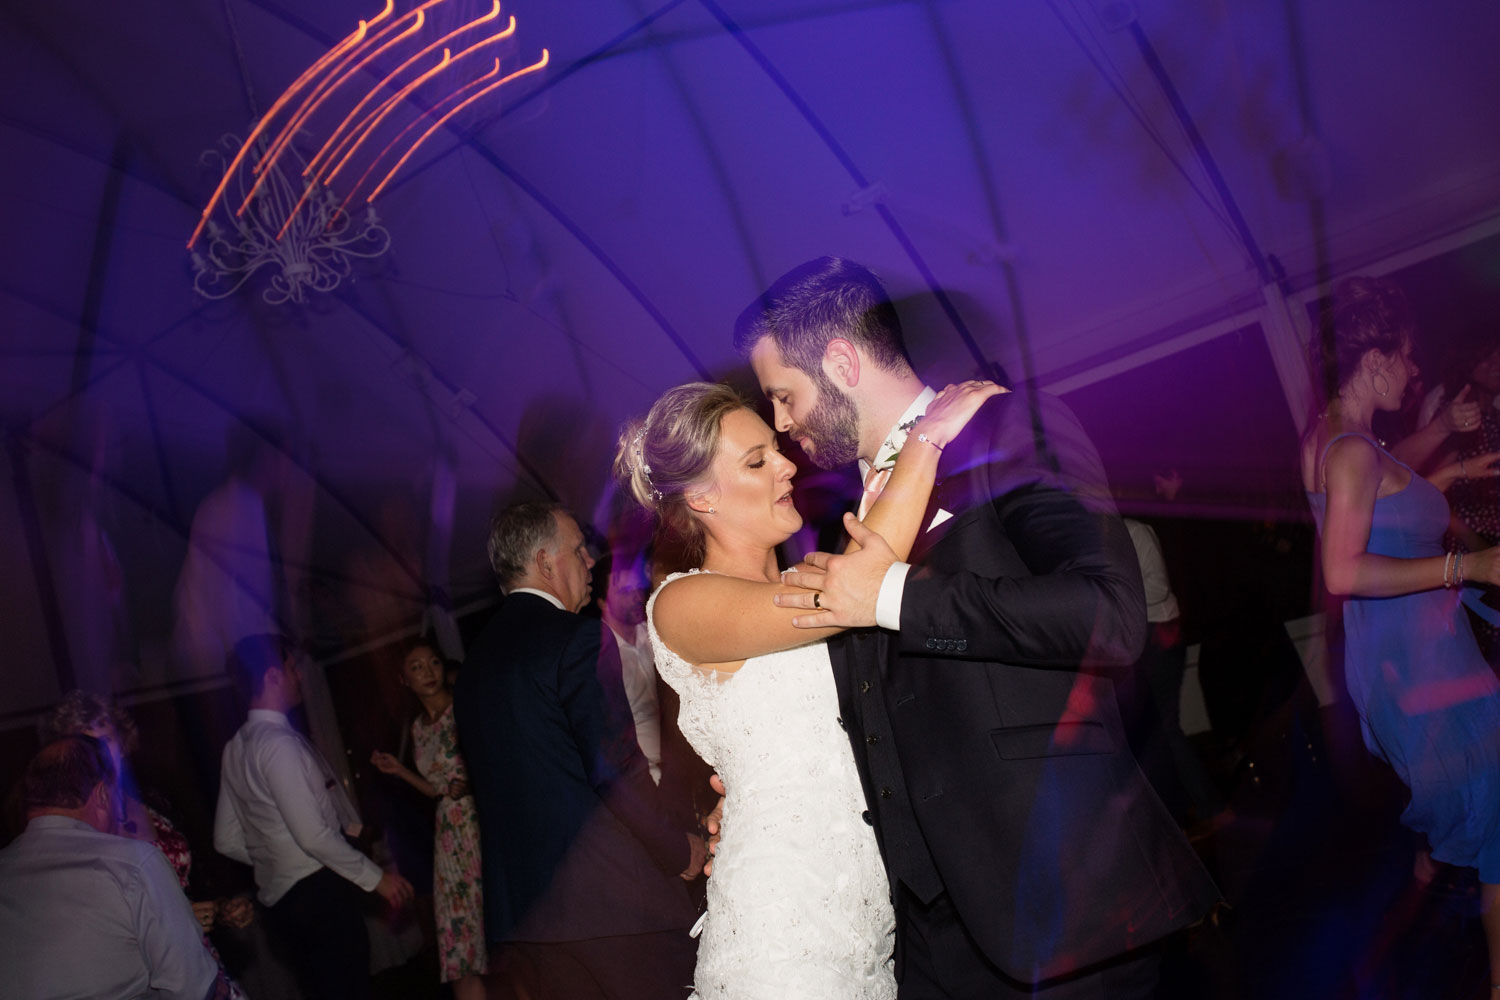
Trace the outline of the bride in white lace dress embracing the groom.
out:
<instances>
[{"instance_id":1,"label":"bride in white lace dress embracing the groom","mask_svg":"<svg viewBox=\"0 0 1500 1000\"><path fill-rule=\"evenodd\" d=\"M897 558L921 529L939 451L999 391L950 385L916 424L864 519ZM624 430L615 474L700 567L668 577L646 606L657 670L682 700L678 726L729 789L694 996L894 997L890 886L825 642L838 630L796 628L772 603L794 589L776 546L802 526L795 466L734 390L690 382Z\"/></svg>"}]
</instances>

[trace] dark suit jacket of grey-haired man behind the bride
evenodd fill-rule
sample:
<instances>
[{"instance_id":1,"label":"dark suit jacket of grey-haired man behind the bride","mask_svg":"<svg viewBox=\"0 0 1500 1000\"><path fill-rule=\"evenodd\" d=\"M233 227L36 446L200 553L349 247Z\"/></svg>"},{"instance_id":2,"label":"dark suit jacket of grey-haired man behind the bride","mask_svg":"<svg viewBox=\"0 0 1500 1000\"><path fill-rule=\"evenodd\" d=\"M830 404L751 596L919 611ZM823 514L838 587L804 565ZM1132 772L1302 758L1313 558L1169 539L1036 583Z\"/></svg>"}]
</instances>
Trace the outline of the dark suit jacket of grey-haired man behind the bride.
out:
<instances>
[{"instance_id":1,"label":"dark suit jacket of grey-haired man behind the bride","mask_svg":"<svg viewBox=\"0 0 1500 1000\"><path fill-rule=\"evenodd\" d=\"M603 622L512 594L453 696L478 807L484 931L574 942L686 930L688 844L636 745Z\"/></svg>"}]
</instances>

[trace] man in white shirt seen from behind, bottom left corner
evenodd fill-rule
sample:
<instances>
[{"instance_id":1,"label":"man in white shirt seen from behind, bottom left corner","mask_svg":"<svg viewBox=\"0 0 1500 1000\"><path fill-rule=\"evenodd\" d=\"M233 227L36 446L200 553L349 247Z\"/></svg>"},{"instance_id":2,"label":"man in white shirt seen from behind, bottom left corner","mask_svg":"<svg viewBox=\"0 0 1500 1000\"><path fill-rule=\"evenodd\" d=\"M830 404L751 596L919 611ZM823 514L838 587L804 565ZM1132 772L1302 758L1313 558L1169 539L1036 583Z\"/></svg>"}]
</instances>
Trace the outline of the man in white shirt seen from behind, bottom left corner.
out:
<instances>
[{"instance_id":1,"label":"man in white shirt seen from behind, bottom left corner","mask_svg":"<svg viewBox=\"0 0 1500 1000\"><path fill-rule=\"evenodd\" d=\"M26 832L0 850L0 994L230 997L162 852L114 835L104 744L52 741L27 765L22 789Z\"/></svg>"}]
</instances>

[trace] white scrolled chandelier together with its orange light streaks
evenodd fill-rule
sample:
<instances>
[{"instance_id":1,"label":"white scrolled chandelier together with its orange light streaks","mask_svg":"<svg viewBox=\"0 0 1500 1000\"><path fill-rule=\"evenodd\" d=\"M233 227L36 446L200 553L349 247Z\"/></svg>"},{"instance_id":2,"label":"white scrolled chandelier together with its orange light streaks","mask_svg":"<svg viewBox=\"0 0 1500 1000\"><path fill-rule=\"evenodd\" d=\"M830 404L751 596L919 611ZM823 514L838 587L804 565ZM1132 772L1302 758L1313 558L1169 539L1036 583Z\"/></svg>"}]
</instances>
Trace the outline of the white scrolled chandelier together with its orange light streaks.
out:
<instances>
[{"instance_id":1,"label":"white scrolled chandelier together with its orange light streaks","mask_svg":"<svg viewBox=\"0 0 1500 1000\"><path fill-rule=\"evenodd\" d=\"M222 178L188 238L200 295L232 295L261 270L273 271L261 294L273 306L333 291L356 261L390 249L374 202L417 148L464 109L546 67L542 49L537 61L501 72L516 18L495 30L500 0L456 27L441 10L447 1L396 15L386 0L303 70L243 142L226 135L204 153ZM316 151L304 157L297 141Z\"/></svg>"}]
</instances>

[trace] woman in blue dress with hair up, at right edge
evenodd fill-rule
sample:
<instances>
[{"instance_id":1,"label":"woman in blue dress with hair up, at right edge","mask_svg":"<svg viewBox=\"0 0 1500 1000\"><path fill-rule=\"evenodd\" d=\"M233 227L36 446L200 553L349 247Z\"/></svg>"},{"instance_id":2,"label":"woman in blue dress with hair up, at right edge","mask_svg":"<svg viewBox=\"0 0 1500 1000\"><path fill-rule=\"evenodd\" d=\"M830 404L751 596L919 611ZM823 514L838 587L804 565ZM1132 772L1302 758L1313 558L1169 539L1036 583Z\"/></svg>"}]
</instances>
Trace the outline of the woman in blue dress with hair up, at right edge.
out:
<instances>
[{"instance_id":1,"label":"woman in blue dress with hair up, at right edge","mask_svg":"<svg viewBox=\"0 0 1500 1000\"><path fill-rule=\"evenodd\" d=\"M1500 552L1443 552L1456 477L1496 475L1500 454L1431 481L1371 430L1416 379L1414 325L1389 282L1353 277L1334 292L1314 361L1332 387L1302 442L1302 481L1322 531L1328 589L1344 601L1344 676L1365 745L1412 792L1402 823L1437 861L1479 870L1491 982L1500 990L1500 681L1462 604L1500 583Z\"/></svg>"}]
</instances>

